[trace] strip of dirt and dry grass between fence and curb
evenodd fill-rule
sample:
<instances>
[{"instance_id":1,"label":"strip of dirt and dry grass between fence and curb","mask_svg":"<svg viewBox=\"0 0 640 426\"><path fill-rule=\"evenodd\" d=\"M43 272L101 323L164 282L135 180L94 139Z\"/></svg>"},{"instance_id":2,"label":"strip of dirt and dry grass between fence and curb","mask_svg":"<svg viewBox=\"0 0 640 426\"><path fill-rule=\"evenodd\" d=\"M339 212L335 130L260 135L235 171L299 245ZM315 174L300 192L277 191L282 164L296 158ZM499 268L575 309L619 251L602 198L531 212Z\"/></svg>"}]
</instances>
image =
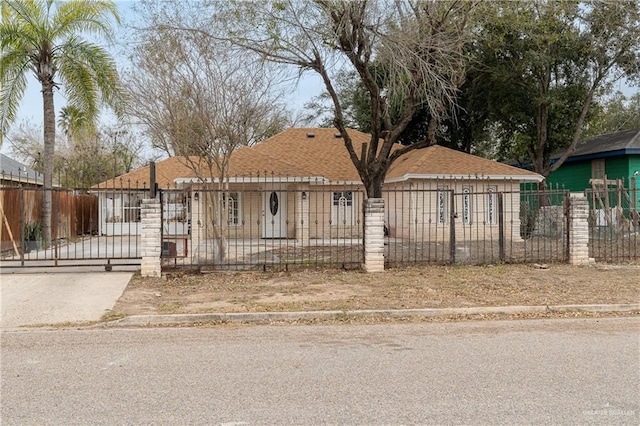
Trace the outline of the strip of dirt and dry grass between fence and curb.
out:
<instances>
[{"instance_id":1,"label":"strip of dirt and dry grass between fence and curb","mask_svg":"<svg viewBox=\"0 0 640 426\"><path fill-rule=\"evenodd\" d=\"M135 275L114 314L445 308L640 302L640 265L421 266Z\"/></svg>"}]
</instances>

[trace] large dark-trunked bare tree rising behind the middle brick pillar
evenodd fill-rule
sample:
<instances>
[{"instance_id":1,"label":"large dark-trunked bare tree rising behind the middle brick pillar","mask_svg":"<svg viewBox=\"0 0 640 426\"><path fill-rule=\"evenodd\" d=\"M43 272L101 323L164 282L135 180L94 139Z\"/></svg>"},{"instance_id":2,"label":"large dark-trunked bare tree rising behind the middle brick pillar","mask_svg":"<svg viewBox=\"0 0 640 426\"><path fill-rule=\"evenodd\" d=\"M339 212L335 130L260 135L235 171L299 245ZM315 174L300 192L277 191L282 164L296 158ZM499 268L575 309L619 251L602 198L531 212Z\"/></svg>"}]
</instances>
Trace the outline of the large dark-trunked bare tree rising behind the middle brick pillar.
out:
<instances>
[{"instance_id":1,"label":"large dark-trunked bare tree rising behind the middle brick pillar","mask_svg":"<svg viewBox=\"0 0 640 426\"><path fill-rule=\"evenodd\" d=\"M211 4L207 15L205 6ZM284 0L191 5L198 8L200 19L185 25L166 16L166 26L320 75L333 102L334 124L367 195L379 198L391 164L433 144L436 124L451 110L464 76L463 44L475 3ZM336 90L337 73L345 68L357 73L371 103L371 139L361 150L353 146ZM430 111L429 135L396 149L401 132L425 106ZM391 108L401 111L395 120Z\"/></svg>"}]
</instances>

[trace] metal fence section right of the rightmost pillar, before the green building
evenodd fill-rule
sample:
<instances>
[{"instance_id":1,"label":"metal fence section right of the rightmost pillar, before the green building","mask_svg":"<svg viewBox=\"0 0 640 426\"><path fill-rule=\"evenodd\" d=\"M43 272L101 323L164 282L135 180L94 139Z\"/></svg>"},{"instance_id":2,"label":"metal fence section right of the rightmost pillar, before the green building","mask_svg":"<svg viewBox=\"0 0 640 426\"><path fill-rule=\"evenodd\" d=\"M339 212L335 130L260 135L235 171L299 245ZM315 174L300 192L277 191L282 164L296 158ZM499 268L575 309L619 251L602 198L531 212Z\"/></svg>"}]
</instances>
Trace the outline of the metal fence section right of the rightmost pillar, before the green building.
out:
<instances>
[{"instance_id":1,"label":"metal fence section right of the rightmost pillar, before the green building","mask_svg":"<svg viewBox=\"0 0 640 426\"><path fill-rule=\"evenodd\" d=\"M628 181L593 180L589 200L589 255L599 262L640 260L640 187Z\"/></svg>"}]
</instances>

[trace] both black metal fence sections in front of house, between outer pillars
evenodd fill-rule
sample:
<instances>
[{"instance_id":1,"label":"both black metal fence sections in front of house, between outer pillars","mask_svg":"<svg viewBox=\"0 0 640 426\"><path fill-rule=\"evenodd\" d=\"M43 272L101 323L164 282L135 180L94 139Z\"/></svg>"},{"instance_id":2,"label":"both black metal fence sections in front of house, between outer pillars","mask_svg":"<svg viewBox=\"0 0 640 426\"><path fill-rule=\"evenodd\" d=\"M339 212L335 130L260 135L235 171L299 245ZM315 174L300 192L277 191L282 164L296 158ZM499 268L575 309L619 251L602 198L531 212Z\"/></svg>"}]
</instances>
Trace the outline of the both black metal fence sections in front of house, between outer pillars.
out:
<instances>
[{"instance_id":1,"label":"both black metal fence sections in front of house, between outer pillars","mask_svg":"<svg viewBox=\"0 0 640 426\"><path fill-rule=\"evenodd\" d=\"M359 185L268 174L162 190L163 265L198 269L359 267ZM567 259L560 189L478 177L387 184L385 263L486 264Z\"/></svg>"}]
</instances>

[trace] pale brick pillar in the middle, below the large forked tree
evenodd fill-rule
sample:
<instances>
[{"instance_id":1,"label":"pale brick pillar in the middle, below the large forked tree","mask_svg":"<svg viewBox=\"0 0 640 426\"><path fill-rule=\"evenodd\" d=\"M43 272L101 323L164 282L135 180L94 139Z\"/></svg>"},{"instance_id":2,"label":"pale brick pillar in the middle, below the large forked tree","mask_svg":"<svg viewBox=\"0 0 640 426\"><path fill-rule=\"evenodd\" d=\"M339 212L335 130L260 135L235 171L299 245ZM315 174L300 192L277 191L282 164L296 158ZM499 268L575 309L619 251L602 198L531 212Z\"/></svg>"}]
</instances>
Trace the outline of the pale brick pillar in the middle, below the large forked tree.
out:
<instances>
[{"instance_id":1,"label":"pale brick pillar in the middle, below the large forked tree","mask_svg":"<svg viewBox=\"0 0 640 426\"><path fill-rule=\"evenodd\" d=\"M384 200L364 200L364 270L384 271Z\"/></svg>"}]
</instances>

